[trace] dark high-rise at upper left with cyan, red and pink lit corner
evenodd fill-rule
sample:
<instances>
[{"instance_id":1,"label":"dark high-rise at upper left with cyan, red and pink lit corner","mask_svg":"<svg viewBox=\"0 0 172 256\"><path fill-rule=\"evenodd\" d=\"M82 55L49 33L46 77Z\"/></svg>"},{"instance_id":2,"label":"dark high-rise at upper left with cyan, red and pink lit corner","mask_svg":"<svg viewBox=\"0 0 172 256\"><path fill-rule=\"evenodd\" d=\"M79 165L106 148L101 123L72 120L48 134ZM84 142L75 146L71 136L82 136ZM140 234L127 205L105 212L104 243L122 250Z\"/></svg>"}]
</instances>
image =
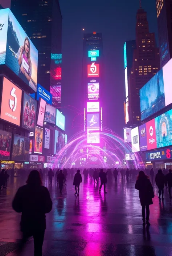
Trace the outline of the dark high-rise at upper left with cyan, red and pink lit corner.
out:
<instances>
[{"instance_id":1,"label":"dark high-rise at upper left with cyan, red and pink lit corner","mask_svg":"<svg viewBox=\"0 0 172 256\"><path fill-rule=\"evenodd\" d=\"M12 0L11 10L38 49L38 84L61 102L62 15L58 0Z\"/></svg>"}]
</instances>

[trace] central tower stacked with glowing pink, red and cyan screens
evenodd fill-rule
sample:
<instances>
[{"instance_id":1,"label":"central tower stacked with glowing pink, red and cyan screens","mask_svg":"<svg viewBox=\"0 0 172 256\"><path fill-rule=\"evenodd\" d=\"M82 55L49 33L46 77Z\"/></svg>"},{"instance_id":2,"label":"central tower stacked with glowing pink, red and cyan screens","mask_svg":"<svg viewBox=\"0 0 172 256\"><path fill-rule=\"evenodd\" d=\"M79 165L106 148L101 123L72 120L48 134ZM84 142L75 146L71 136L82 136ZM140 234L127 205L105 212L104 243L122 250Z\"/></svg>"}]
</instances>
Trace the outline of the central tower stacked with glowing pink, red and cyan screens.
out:
<instances>
[{"instance_id":1,"label":"central tower stacked with glowing pink, red and cyan screens","mask_svg":"<svg viewBox=\"0 0 172 256\"><path fill-rule=\"evenodd\" d=\"M83 37L83 92L84 131L87 145L102 147L102 33L93 32ZM93 152L92 152L93 153ZM89 155L89 147L87 149ZM92 159L93 160L93 159Z\"/></svg>"}]
</instances>

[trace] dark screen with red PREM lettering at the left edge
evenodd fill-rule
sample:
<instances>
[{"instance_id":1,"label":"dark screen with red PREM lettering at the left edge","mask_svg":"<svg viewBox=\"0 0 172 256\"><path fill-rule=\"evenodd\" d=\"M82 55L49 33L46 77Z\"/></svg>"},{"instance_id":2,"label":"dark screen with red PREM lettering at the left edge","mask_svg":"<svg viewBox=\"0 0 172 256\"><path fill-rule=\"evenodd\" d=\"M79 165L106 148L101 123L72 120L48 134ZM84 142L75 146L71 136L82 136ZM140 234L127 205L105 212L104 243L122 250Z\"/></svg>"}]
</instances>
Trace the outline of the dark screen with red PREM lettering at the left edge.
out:
<instances>
[{"instance_id":1,"label":"dark screen with red PREM lettering at the left edge","mask_svg":"<svg viewBox=\"0 0 172 256\"><path fill-rule=\"evenodd\" d=\"M0 130L0 159L8 160L11 152L12 133Z\"/></svg>"}]
</instances>

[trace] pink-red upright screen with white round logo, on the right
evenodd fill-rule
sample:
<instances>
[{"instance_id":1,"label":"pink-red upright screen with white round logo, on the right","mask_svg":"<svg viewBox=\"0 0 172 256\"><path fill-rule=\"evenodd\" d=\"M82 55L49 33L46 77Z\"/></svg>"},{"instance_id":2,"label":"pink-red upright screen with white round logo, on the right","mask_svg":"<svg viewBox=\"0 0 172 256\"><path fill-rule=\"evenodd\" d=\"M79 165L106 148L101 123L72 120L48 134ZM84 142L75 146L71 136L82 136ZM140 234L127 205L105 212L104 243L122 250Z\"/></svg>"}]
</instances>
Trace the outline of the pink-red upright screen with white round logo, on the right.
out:
<instances>
[{"instance_id":1,"label":"pink-red upright screen with white round logo, on the right","mask_svg":"<svg viewBox=\"0 0 172 256\"><path fill-rule=\"evenodd\" d=\"M147 149L156 149L155 119L146 123Z\"/></svg>"}]
</instances>

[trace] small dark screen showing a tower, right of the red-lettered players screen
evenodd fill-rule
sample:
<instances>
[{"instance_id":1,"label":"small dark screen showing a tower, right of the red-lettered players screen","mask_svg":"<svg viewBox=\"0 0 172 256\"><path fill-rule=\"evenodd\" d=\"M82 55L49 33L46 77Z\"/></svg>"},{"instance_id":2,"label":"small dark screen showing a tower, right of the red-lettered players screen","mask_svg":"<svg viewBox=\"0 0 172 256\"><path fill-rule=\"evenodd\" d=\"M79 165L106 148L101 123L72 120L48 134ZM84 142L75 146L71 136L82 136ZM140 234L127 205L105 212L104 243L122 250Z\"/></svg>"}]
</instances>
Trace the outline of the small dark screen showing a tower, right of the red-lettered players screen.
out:
<instances>
[{"instance_id":1,"label":"small dark screen showing a tower, right of the red-lettered players screen","mask_svg":"<svg viewBox=\"0 0 172 256\"><path fill-rule=\"evenodd\" d=\"M24 160L24 141L25 137L14 134L12 160Z\"/></svg>"}]
</instances>

